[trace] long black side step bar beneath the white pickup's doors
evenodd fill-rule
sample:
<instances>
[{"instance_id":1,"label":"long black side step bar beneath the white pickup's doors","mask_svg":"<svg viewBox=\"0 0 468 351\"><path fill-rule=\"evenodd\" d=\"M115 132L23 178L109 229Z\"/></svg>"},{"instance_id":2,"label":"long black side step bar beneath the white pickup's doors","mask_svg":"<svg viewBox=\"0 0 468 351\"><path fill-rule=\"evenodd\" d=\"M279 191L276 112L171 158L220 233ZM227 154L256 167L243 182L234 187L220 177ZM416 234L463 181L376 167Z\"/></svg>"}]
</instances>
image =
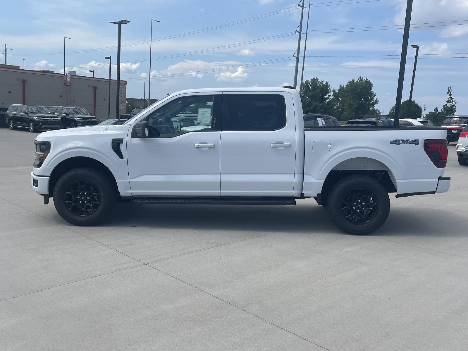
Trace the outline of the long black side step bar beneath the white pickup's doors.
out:
<instances>
[{"instance_id":1,"label":"long black side step bar beneath the white pickup's doors","mask_svg":"<svg viewBox=\"0 0 468 351\"><path fill-rule=\"evenodd\" d=\"M133 197L141 205L296 205L294 197Z\"/></svg>"}]
</instances>

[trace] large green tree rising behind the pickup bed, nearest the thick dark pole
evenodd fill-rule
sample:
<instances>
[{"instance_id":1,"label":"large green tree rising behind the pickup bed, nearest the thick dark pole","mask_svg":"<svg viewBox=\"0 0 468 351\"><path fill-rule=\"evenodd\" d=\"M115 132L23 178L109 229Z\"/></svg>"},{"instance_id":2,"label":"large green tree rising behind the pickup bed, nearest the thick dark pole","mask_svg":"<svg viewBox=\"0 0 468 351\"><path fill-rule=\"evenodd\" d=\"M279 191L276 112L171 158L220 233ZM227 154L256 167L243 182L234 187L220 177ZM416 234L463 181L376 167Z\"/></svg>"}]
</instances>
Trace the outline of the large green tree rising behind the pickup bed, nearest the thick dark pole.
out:
<instances>
[{"instance_id":1,"label":"large green tree rising behind the pickup bed, nearest the thick dark pole","mask_svg":"<svg viewBox=\"0 0 468 351\"><path fill-rule=\"evenodd\" d=\"M372 82L362 77L349 80L345 86L340 84L337 90L333 90L333 100L335 116L345 121L374 112L379 102L375 98Z\"/></svg>"}]
</instances>

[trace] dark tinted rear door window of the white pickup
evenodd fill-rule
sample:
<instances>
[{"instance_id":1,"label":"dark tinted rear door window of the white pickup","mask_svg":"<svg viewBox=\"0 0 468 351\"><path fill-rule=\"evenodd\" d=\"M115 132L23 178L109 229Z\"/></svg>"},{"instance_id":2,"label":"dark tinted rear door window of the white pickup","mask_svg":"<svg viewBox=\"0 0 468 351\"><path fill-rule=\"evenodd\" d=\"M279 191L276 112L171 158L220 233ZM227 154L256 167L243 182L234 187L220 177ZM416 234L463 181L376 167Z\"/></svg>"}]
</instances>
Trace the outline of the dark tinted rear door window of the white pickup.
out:
<instances>
[{"instance_id":1,"label":"dark tinted rear door window of the white pickup","mask_svg":"<svg viewBox=\"0 0 468 351\"><path fill-rule=\"evenodd\" d=\"M276 131L285 126L283 95L223 95L223 130Z\"/></svg>"}]
</instances>

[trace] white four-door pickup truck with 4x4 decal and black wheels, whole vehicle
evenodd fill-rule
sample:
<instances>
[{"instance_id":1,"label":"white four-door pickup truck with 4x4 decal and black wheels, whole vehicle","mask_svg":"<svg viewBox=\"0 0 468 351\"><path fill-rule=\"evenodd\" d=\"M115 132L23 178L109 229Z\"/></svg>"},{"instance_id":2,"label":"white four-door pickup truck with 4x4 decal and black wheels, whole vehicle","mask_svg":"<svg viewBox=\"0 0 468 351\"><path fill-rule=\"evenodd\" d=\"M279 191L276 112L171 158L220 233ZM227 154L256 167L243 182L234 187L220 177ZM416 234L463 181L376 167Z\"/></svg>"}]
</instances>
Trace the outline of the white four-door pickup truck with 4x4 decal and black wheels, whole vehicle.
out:
<instances>
[{"instance_id":1,"label":"white four-door pickup truck with 4x4 decal and black wheels, whole vehicle","mask_svg":"<svg viewBox=\"0 0 468 351\"><path fill-rule=\"evenodd\" d=\"M181 113L205 128L184 130L173 121ZM304 129L299 93L289 88L179 91L125 124L44 132L35 144L33 189L82 226L124 200L295 205L314 197L338 228L368 234L388 217L388 193L450 186L445 129Z\"/></svg>"}]
</instances>

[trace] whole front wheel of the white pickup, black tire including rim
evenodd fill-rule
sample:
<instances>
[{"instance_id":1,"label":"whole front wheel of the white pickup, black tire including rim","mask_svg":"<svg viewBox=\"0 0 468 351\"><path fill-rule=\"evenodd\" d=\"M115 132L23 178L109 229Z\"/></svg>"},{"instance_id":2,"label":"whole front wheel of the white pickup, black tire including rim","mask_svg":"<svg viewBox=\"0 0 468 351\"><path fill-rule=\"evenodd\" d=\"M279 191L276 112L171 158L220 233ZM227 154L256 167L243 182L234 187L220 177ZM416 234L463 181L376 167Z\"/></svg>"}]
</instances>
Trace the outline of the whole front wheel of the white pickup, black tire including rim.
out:
<instances>
[{"instance_id":1,"label":"whole front wheel of the white pickup, black tire including rim","mask_svg":"<svg viewBox=\"0 0 468 351\"><path fill-rule=\"evenodd\" d=\"M83 187L82 191L80 186ZM86 194L86 189L90 191L89 194ZM110 179L102 172L95 168L80 167L59 178L53 190L53 198L55 209L68 223L75 226L94 226L114 210L117 194ZM79 203L80 200L83 203Z\"/></svg>"}]
</instances>

